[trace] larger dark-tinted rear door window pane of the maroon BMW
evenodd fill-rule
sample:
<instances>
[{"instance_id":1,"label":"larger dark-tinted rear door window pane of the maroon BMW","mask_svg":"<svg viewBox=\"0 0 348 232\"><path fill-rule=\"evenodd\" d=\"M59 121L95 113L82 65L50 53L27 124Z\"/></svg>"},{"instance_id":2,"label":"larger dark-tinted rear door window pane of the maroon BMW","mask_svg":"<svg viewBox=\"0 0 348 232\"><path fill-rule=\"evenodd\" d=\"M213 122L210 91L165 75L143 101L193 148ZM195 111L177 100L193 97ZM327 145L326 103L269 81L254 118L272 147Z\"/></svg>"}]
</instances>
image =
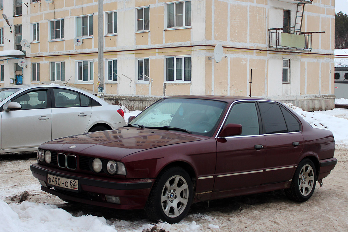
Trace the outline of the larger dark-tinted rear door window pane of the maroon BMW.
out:
<instances>
[{"instance_id":1,"label":"larger dark-tinted rear door window pane of the maroon BMW","mask_svg":"<svg viewBox=\"0 0 348 232\"><path fill-rule=\"evenodd\" d=\"M259 102L264 134L287 133L285 120L278 104Z\"/></svg>"}]
</instances>

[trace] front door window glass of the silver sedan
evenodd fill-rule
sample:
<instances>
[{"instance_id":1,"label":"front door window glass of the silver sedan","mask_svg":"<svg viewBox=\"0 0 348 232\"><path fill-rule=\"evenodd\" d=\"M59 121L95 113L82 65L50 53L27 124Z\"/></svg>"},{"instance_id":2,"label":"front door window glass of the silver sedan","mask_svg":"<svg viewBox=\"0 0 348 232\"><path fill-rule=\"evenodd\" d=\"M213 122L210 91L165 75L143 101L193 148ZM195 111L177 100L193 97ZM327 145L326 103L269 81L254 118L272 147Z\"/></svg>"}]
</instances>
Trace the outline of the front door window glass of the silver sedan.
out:
<instances>
[{"instance_id":1,"label":"front door window glass of the silver sedan","mask_svg":"<svg viewBox=\"0 0 348 232\"><path fill-rule=\"evenodd\" d=\"M22 105L22 110L47 108L47 91L32 91L12 100Z\"/></svg>"}]
</instances>

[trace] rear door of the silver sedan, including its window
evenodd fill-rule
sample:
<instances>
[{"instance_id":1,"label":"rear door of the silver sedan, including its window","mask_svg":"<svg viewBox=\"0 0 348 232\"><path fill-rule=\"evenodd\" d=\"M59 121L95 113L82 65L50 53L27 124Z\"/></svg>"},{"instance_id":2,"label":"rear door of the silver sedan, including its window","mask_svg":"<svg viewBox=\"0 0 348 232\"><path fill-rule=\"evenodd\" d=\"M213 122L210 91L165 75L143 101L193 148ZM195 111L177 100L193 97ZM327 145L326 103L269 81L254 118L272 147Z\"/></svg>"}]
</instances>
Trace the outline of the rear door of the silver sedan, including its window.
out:
<instances>
[{"instance_id":1,"label":"rear door of the silver sedan, including its window","mask_svg":"<svg viewBox=\"0 0 348 232\"><path fill-rule=\"evenodd\" d=\"M52 139L85 133L92 106L90 98L69 89L52 88Z\"/></svg>"}]
</instances>

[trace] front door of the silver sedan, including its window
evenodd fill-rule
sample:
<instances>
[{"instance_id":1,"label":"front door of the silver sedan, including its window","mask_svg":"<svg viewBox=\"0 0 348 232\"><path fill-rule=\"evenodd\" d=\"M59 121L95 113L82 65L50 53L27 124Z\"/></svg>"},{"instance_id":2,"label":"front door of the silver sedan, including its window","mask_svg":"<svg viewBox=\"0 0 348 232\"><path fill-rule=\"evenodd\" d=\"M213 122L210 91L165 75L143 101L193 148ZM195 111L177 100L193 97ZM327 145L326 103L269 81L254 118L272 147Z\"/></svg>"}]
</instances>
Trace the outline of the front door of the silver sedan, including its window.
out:
<instances>
[{"instance_id":1,"label":"front door of the silver sedan, including its window","mask_svg":"<svg viewBox=\"0 0 348 232\"><path fill-rule=\"evenodd\" d=\"M22 109L2 112L1 149L38 147L51 140L52 112L46 92L35 90L11 99Z\"/></svg>"}]
</instances>

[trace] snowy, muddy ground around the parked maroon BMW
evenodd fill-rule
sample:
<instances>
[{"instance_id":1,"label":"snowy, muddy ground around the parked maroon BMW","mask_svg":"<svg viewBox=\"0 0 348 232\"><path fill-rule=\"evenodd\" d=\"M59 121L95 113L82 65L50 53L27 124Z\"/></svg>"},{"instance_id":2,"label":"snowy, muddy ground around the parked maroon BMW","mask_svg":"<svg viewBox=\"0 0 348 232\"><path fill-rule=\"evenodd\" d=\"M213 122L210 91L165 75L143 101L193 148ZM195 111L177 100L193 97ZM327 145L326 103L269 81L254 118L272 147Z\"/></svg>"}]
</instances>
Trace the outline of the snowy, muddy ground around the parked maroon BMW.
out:
<instances>
[{"instance_id":1,"label":"snowy, muddy ground around the parked maroon BMW","mask_svg":"<svg viewBox=\"0 0 348 232\"><path fill-rule=\"evenodd\" d=\"M337 99L336 103L348 104L348 100ZM348 109L306 112L288 105L311 126L331 130L337 144L339 163L324 179L324 187L317 186L307 202L288 201L282 191L275 191L217 200L210 207L198 203L178 224L151 224L138 211L121 211L115 216L111 209L65 203L40 191L28 167L34 158L0 159L0 232L348 231ZM139 113L126 113L126 121ZM131 215L130 219L124 215Z\"/></svg>"}]
</instances>

